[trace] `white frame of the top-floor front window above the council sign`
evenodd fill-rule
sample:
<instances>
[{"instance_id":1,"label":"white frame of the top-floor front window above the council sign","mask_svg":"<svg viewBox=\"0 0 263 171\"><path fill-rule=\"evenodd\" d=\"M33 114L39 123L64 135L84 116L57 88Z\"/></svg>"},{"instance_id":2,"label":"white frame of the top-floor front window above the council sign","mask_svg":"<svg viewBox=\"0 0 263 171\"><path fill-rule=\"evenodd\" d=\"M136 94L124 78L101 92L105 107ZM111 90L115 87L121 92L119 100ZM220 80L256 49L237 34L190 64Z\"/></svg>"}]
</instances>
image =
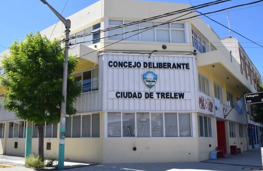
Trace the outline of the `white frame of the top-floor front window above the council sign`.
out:
<instances>
[{"instance_id":1,"label":"white frame of the top-floor front window above the council sign","mask_svg":"<svg viewBox=\"0 0 263 171\"><path fill-rule=\"evenodd\" d=\"M135 22L134 20L108 19L108 21L110 21L110 20L122 21L122 24L125 24L125 21ZM156 25L156 23L164 23L164 22L158 22L158 21L150 21L150 22L154 23L154 25ZM138 23L138 24L139 24L139 26L130 25L130 26L127 26L127 27L123 27L122 28L122 33L127 32L127 31L125 31L125 28L136 28L136 29L143 29L143 28L145 28L145 27L140 26L140 23ZM169 39L170 39L170 41L169 42L165 42L165 43L176 43L176 42L172 42L171 30L183 30L184 31L184 36L185 36L185 42L184 43L187 42L186 24L185 24L185 22L184 23L167 23L167 24L169 24L169 28L158 28L158 27L151 28L151 29L154 29L154 40L155 41L142 41L142 42L158 42L158 41L156 41L156 30L169 30ZM184 24L184 28L172 28L171 24ZM166 24L164 24L164 25L166 25ZM115 26L118 26L118 25L110 25L109 24L108 28L115 27ZM144 30L139 30L139 41L141 41L141 31L144 31ZM118 33L118 34L120 34L120 33ZM125 38L125 34L122 34L122 35L119 35L119 36L122 36L122 39ZM109 40L109 38L108 38L108 40ZM125 39L124 39L124 41L125 41ZM129 40L129 41L132 41L132 40Z\"/></svg>"}]
</instances>

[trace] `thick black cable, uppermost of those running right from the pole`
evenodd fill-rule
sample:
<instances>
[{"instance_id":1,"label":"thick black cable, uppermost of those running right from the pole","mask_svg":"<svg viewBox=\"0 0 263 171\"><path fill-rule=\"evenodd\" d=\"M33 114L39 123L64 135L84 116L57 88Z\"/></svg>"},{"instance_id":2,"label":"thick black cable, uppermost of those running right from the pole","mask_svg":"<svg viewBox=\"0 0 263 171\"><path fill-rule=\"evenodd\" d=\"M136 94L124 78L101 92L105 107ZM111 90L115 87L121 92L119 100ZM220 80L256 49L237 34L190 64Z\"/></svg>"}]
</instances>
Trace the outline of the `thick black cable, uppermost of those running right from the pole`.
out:
<instances>
[{"instance_id":1,"label":"thick black cable, uppermost of those running right from the pole","mask_svg":"<svg viewBox=\"0 0 263 171\"><path fill-rule=\"evenodd\" d=\"M204 8L204 7L208 7L210 5L215 5L215 4L219 4L219 3L223 3L223 2L227 2L227 1L231 1L231 0L217 0L217 1L214 1L214 2L200 4L198 6L177 10L177 11L174 11L174 12L158 15L158 16L155 16L155 17L147 18L147 19L142 19L142 20L131 22L131 23L127 23L127 24L122 24L122 25L119 25L119 26L110 27L110 28L107 28L107 29L104 29L104 30L98 30L98 31L90 32L90 33L83 34L83 35L73 36L71 38L68 38L67 40L71 40L71 39L80 38L80 37L83 37L83 36L92 35L94 33L101 33L101 32L105 32L105 31L110 31L110 30L114 30L114 29L117 29L117 28L122 28L124 26L130 26L130 25L134 25L134 24L138 24L138 23L142 23L142 22L146 22L146 21L150 21L150 20L154 20L154 19L158 19L158 18L168 17L170 15L180 14L180 13L187 12L187 11L190 11L190 10ZM65 39L62 39L61 41L64 41L64 40Z\"/></svg>"}]
</instances>

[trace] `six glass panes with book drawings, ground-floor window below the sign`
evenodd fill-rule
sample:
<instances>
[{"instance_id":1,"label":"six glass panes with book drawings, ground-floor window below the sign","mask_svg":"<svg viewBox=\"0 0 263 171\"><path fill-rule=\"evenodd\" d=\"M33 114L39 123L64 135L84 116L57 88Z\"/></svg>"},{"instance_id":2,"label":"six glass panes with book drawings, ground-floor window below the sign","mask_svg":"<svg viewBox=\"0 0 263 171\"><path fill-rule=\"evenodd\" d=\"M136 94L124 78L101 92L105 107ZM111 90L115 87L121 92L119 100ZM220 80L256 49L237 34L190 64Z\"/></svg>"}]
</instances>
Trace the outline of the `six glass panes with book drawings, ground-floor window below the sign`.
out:
<instances>
[{"instance_id":1,"label":"six glass panes with book drawings, ground-floor window below the sign","mask_svg":"<svg viewBox=\"0 0 263 171\"><path fill-rule=\"evenodd\" d=\"M208 120L211 123L211 120ZM164 129L165 128L165 129ZM108 137L190 137L190 113L108 113Z\"/></svg>"}]
</instances>

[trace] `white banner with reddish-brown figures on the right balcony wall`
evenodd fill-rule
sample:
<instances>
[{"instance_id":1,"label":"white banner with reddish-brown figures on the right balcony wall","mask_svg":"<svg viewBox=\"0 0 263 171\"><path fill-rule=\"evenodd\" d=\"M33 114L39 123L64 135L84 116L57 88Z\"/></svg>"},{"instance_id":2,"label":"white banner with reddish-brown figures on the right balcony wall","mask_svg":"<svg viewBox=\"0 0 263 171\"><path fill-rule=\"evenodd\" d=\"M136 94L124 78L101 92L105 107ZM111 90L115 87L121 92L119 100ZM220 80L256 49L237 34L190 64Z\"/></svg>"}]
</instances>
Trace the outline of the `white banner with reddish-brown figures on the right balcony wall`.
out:
<instances>
[{"instance_id":1,"label":"white banner with reddish-brown figures on the right balcony wall","mask_svg":"<svg viewBox=\"0 0 263 171\"><path fill-rule=\"evenodd\" d=\"M198 111L204 114L215 115L214 99L208 95L198 92Z\"/></svg>"}]
</instances>

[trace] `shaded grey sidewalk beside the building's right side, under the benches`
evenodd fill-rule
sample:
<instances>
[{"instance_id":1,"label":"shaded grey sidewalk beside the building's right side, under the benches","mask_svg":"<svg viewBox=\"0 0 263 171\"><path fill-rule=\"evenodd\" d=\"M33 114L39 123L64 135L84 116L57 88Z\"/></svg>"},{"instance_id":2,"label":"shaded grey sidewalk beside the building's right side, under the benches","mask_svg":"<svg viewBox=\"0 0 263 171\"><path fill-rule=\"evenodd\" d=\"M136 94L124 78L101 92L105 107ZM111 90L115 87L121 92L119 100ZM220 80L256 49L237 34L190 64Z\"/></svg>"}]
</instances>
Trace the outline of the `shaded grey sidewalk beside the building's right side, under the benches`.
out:
<instances>
[{"instance_id":1,"label":"shaded grey sidewalk beside the building's right side, under the benches","mask_svg":"<svg viewBox=\"0 0 263 171\"><path fill-rule=\"evenodd\" d=\"M225 154L225 158L209 159L204 162L243 165L262 168L261 149L252 149L250 151L241 152L241 154L237 155Z\"/></svg>"}]
</instances>

